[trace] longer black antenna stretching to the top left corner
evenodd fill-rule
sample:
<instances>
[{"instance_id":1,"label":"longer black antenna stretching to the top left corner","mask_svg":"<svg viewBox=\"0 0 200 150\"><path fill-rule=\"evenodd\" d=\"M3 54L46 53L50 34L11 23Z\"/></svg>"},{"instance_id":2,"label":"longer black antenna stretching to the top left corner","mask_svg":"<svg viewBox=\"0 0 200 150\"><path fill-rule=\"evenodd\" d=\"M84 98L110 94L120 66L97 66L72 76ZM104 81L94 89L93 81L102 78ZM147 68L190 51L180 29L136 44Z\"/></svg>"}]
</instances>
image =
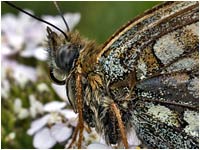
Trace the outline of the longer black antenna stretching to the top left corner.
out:
<instances>
[{"instance_id":1,"label":"longer black antenna stretching to the top left corner","mask_svg":"<svg viewBox=\"0 0 200 150\"><path fill-rule=\"evenodd\" d=\"M64 35L64 37L66 38L66 40L69 39L68 36L66 35L66 33L65 33L64 31L62 31L60 28L56 27L55 25L51 24L50 22L47 22L47 21L45 21L45 20L43 20L43 19L41 19L41 18L39 18L39 17L37 17L37 16L34 16L33 14L31 14L31 13L29 13L29 12L27 12L27 11L25 11L25 10L19 8L19 7L17 7L16 5L14 5L14 4L12 4L12 3L8 2L8 1L4 1L4 2L5 2L6 4L8 4L9 6L11 6L11 7L15 8L15 9L17 9L17 10L19 10L19 11L21 11L21 12L27 14L28 16L31 16L32 18L34 18L34 19L36 19L36 20L39 20L39 21L41 21L41 22L43 22L43 23L46 23L46 24L48 24L48 25L54 27L55 29L57 29L58 31L60 31L60 32Z\"/></svg>"}]
</instances>

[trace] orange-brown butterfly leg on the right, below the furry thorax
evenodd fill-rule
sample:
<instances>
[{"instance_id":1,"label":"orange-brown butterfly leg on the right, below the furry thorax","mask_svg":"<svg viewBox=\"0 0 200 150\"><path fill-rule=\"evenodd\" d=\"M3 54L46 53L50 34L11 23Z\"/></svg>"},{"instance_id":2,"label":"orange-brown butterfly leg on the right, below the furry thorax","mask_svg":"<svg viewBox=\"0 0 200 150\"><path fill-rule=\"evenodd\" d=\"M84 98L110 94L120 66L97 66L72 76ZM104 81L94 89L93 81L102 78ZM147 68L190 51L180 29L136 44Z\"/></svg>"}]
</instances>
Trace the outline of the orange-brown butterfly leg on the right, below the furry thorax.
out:
<instances>
[{"instance_id":1,"label":"orange-brown butterfly leg on the right, below the furry thorax","mask_svg":"<svg viewBox=\"0 0 200 150\"><path fill-rule=\"evenodd\" d=\"M120 129L120 133L121 133L122 142L124 144L124 147L126 149L128 149L128 140L127 140L126 132L125 132L125 129L124 129L124 123L122 121L120 110L118 109L117 105L114 102L111 104L111 110L113 111L113 113L115 114L115 116L117 118L117 122L118 122L118 125L119 125L119 129Z\"/></svg>"}]
</instances>

